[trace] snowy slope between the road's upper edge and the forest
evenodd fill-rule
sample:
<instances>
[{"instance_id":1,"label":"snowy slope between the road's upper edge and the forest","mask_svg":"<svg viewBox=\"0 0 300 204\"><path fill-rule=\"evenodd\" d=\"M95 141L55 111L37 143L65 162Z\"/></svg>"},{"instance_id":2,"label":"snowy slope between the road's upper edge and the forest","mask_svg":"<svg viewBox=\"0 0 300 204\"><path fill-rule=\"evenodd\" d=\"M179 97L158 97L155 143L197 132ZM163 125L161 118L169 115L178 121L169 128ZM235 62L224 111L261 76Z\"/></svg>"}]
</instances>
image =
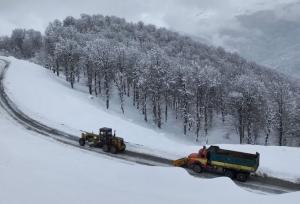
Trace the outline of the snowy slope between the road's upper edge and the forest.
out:
<instances>
[{"instance_id":1,"label":"snowy slope between the road's upper edge and the forest","mask_svg":"<svg viewBox=\"0 0 300 204\"><path fill-rule=\"evenodd\" d=\"M80 134L80 129L114 127L117 134L132 144L129 148L167 156L171 159L196 152L199 145L189 144L156 129L128 121L124 116L107 111L99 101L85 92L72 90L69 84L38 65L9 58L5 85L13 101L30 117L50 126ZM258 173L299 182L300 149L250 145L220 145L250 153L260 152ZM288 158L288 159L286 159ZM293 164L293 168L290 165Z\"/></svg>"}]
</instances>

